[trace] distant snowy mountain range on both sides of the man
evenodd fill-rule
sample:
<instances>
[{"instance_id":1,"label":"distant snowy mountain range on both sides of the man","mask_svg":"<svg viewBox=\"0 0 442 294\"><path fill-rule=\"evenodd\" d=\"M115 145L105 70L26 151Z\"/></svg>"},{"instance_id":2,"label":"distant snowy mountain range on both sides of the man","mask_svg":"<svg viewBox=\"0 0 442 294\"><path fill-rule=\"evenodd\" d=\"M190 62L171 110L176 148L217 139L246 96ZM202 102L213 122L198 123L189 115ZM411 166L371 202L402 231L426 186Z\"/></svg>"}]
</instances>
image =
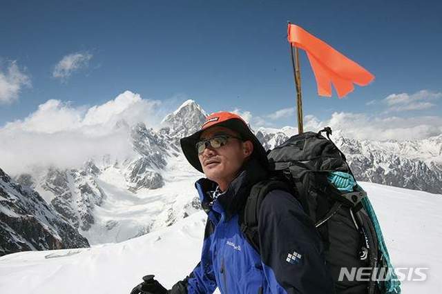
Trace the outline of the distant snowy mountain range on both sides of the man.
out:
<instances>
[{"instance_id":1,"label":"distant snowy mountain range on both sides of the man","mask_svg":"<svg viewBox=\"0 0 442 294\"><path fill-rule=\"evenodd\" d=\"M17 175L88 238L90 244L122 242L198 211L193 182L202 176L184 158L180 138L200 128L206 112L185 101L166 115L160 128L118 121L130 134L131 155L103 154L82 166L35 168ZM314 130L318 131L318 130ZM295 129L259 128L258 139L273 148ZM332 139L347 155L358 180L442 193L442 135L416 141L358 141L334 130Z\"/></svg>"}]
</instances>

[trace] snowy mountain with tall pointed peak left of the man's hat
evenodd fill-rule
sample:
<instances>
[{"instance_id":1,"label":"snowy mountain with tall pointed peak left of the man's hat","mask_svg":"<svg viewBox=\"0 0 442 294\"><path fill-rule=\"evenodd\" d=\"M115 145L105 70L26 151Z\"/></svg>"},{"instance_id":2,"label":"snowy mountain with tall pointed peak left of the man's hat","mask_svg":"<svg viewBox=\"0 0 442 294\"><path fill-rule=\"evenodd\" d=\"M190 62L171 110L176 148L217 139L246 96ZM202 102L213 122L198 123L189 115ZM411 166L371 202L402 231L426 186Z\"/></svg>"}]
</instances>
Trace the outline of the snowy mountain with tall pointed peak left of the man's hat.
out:
<instances>
[{"instance_id":1,"label":"snowy mountain with tall pointed peak left of the man's hat","mask_svg":"<svg viewBox=\"0 0 442 294\"><path fill-rule=\"evenodd\" d=\"M144 235L200 209L193 182L202 174L187 163L179 139L199 128L205 116L189 100L158 130L119 121L116 128L130 133L133 156L118 161L104 154L81 167L36 168L39 173L16 179L37 190L91 244Z\"/></svg>"}]
</instances>

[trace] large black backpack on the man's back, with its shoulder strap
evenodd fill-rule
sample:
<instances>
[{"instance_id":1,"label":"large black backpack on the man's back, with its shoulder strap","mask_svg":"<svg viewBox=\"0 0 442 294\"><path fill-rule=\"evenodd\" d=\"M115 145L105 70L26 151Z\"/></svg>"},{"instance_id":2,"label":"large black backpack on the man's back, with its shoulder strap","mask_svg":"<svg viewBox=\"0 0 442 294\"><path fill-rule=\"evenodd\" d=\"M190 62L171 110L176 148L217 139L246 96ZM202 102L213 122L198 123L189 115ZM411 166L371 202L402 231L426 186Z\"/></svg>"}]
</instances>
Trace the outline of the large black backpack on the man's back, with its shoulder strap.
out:
<instances>
[{"instance_id":1,"label":"large black backpack on the man's back, with its shoulder strap","mask_svg":"<svg viewBox=\"0 0 442 294\"><path fill-rule=\"evenodd\" d=\"M321 133L325 132L327 138ZM268 152L272 177L255 184L244 208L242 231L259 252L258 211L271 190L287 190L311 217L325 246L329 271L340 294L383 293L376 281L338 281L341 268L376 268L382 256L373 223L361 203L366 193L343 193L329 184L330 172L352 174L345 155L329 139L332 130L294 135ZM366 272L365 272L366 273Z\"/></svg>"}]
</instances>

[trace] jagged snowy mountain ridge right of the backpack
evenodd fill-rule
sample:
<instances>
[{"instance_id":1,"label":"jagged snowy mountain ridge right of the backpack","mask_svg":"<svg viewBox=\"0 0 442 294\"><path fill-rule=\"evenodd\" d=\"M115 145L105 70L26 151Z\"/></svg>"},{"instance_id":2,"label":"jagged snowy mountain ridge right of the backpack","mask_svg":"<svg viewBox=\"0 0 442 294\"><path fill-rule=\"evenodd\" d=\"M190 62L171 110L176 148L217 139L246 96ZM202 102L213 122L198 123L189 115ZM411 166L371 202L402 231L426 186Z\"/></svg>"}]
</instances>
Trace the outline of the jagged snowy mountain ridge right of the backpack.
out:
<instances>
[{"instance_id":1,"label":"jagged snowy mountain ridge right of the backpack","mask_svg":"<svg viewBox=\"0 0 442 294\"><path fill-rule=\"evenodd\" d=\"M404 142L334 141L358 180L442 193L442 135Z\"/></svg>"}]
</instances>

